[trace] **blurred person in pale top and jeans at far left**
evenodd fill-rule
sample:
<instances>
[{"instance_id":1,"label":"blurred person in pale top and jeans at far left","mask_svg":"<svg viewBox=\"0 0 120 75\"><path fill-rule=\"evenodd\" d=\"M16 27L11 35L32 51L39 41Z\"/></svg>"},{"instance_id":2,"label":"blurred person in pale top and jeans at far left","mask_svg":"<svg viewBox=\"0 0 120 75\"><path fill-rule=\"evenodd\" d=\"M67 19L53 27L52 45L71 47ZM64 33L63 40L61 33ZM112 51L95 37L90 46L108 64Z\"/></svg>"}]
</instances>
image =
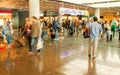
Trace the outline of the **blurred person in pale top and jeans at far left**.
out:
<instances>
[{"instance_id":1,"label":"blurred person in pale top and jeans at far left","mask_svg":"<svg viewBox=\"0 0 120 75\"><path fill-rule=\"evenodd\" d=\"M10 44L11 44L11 36L13 34L13 27L10 21L7 21L6 18L3 18L3 27L2 27L2 35L3 38L6 38L7 40L7 44L8 44L8 48L10 48Z\"/></svg>"}]
</instances>

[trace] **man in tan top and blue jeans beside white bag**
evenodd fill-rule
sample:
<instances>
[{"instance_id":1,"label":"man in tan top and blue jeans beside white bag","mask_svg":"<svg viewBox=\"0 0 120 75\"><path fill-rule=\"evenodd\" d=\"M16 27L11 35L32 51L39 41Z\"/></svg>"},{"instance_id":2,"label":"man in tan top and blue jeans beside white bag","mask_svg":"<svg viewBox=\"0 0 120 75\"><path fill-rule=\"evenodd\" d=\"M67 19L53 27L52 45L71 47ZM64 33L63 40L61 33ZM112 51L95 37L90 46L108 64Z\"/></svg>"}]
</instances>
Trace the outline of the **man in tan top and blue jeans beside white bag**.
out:
<instances>
[{"instance_id":1,"label":"man in tan top and blue jeans beside white bag","mask_svg":"<svg viewBox=\"0 0 120 75\"><path fill-rule=\"evenodd\" d=\"M33 48L36 42L38 41L38 38L40 37L40 24L38 21L38 18L33 16L31 18L32 24L31 24L31 46L29 50L29 55L33 54Z\"/></svg>"}]
</instances>

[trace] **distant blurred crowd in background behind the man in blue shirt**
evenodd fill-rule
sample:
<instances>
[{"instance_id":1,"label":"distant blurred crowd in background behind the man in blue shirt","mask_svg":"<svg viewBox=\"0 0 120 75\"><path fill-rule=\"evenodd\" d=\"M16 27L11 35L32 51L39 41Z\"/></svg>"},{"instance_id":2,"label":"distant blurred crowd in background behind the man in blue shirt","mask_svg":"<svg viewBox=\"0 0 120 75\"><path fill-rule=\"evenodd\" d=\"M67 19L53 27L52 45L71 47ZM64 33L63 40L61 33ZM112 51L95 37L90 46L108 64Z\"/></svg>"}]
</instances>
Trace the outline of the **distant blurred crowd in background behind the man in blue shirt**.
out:
<instances>
[{"instance_id":1,"label":"distant blurred crowd in background behind the man in blue shirt","mask_svg":"<svg viewBox=\"0 0 120 75\"><path fill-rule=\"evenodd\" d=\"M60 23L58 17L55 17L52 22L42 17L39 21L41 21L43 24L42 39L44 39L45 34L50 34L51 38L58 40L59 33L63 33L63 36L79 36L81 33L84 34L84 32L88 30L88 26L93 22L93 18L87 18L85 20L78 18L63 19ZM115 33L120 32L120 20L117 21L116 19L112 19L111 21L108 21L100 19L97 22L102 26L103 29L103 34L101 36L103 41L112 41L112 37L115 36ZM120 35L118 38L120 40Z\"/></svg>"}]
</instances>

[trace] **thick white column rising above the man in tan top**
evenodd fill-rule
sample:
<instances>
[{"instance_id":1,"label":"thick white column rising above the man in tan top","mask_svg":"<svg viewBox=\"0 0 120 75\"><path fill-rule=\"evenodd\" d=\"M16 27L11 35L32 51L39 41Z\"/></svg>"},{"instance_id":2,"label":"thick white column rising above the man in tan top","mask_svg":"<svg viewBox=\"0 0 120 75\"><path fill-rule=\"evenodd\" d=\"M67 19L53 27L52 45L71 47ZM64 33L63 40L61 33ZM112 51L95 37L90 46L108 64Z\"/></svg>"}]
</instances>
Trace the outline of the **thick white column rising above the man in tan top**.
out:
<instances>
[{"instance_id":1,"label":"thick white column rising above the man in tan top","mask_svg":"<svg viewBox=\"0 0 120 75\"><path fill-rule=\"evenodd\" d=\"M29 17L40 16L40 0L29 0Z\"/></svg>"}]
</instances>

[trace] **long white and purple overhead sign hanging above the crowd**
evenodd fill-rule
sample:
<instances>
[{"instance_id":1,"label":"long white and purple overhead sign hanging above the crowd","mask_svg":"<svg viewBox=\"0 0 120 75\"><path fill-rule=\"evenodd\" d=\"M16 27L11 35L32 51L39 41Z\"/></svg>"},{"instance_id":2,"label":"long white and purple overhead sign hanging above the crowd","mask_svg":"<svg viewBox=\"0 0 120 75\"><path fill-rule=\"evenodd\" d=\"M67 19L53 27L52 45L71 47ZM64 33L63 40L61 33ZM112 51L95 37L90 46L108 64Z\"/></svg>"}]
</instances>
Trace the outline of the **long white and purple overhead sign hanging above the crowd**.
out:
<instances>
[{"instance_id":1,"label":"long white and purple overhead sign hanging above the crowd","mask_svg":"<svg viewBox=\"0 0 120 75\"><path fill-rule=\"evenodd\" d=\"M85 10L76 10L76 9L69 9L69 8L59 8L60 14L70 14L70 15L85 15L89 16L89 12Z\"/></svg>"}]
</instances>

